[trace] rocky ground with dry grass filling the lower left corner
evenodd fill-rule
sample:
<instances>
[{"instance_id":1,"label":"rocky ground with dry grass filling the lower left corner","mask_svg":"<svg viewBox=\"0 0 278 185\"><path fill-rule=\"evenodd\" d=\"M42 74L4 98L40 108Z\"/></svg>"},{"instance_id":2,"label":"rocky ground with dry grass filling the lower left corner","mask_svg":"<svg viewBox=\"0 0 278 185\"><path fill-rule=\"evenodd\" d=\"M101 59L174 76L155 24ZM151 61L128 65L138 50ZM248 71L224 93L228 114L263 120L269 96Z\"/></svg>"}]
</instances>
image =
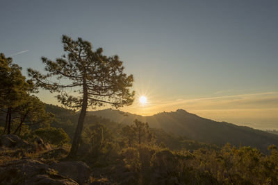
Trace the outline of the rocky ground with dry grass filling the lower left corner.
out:
<instances>
[{"instance_id":1,"label":"rocky ground with dry grass filling the lower left corner","mask_svg":"<svg viewBox=\"0 0 278 185\"><path fill-rule=\"evenodd\" d=\"M13 134L0 139L0 184L96 184L81 161L65 161L67 151L36 138L28 143Z\"/></svg>"}]
</instances>

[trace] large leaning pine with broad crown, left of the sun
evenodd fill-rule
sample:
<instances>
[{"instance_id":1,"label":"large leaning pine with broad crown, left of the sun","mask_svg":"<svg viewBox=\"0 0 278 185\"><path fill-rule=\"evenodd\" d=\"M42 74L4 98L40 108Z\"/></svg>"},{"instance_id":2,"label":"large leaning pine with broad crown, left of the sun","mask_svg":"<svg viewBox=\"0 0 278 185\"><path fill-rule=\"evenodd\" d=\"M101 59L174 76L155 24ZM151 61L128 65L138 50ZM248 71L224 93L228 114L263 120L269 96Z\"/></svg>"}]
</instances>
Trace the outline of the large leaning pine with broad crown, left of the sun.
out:
<instances>
[{"instance_id":1,"label":"large leaning pine with broad crown, left of the sun","mask_svg":"<svg viewBox=\"0 0 278 185\"><path fill-rule=\"evenodd\" d=\"M102 55L102 49L92 51L90 42L81 38L72 40L63 35L63 49L67 55L56 61L42 58L46 65L46 75L28 69L28 74L35 80L36 85L51 92L60 93L58 100L67 107L81 109L79 120L68 157L74 157L79 148L83 122L88 107L101 106L108 103L113 107L122 107L133 103L133 76L124 73L122 61L117 55L107 57ZM51 82L56 77L56 82ZM63 81L63 79L66 79ZM60 82L62 80L62 82ZM69 94L67 89L78 92Z\"/></svg>"}]
</instances>

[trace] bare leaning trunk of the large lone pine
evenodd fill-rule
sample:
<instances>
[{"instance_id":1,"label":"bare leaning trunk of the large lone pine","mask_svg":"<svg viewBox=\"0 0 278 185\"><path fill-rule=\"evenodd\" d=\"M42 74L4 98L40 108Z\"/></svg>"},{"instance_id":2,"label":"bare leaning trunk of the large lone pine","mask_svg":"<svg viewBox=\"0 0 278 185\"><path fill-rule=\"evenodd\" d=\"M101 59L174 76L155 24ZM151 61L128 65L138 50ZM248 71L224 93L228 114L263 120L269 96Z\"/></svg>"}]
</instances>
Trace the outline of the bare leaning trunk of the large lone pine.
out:
<instances>
[{"instance_id":1,"label":"bare leaning trunk of the large lone pine","mask_svg":"<svg viewBox=\"0 0 278 185\"><path fill-rule=\"evenodd\" d=\"M81 112L79 114L79 119L78 119L78 123L76 126L74 139L72 140L72 148L70 149L69 155L67 155L67 159L72 159L72 158L76 157L77 150L79 148L82 130L83 130L84 119L85 119L85 115L87 112L87 105L88 105L88 91L87 91L86 80L83 79L82 107L81 107Z\"/></svg>"}]
</instances>

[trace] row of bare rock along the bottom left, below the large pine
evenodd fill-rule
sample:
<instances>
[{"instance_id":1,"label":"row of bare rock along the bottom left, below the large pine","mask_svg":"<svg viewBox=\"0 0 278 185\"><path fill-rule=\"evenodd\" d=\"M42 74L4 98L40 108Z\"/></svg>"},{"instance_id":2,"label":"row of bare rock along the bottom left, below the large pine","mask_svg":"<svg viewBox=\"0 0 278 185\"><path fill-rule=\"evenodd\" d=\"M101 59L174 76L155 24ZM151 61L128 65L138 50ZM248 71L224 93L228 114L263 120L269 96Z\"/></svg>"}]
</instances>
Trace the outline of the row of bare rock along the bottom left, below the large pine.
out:
<instances>
[{"instance_id":1,"label":"row of bare rock along the bottom left, below the large pine","mask_svg":"<svg viewBox=\"0 0 278 185\"><path fill-rule=\"evenodd\" d=\"M51 166L40 161L23 159L10 161L0 167L3 184L85 184L90 168L83 162L60 162ZM1 184L0 183L0 184Z\"/></svg>"}]
</instances>

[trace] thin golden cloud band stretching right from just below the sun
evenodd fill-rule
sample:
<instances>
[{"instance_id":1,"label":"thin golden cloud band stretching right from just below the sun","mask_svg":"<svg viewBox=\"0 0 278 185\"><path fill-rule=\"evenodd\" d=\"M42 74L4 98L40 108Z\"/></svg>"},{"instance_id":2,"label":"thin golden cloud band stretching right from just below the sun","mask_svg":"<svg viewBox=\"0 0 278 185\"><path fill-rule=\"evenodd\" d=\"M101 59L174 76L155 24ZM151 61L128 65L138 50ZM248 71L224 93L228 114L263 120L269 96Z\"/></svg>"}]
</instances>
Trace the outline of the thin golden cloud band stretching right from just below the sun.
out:
<instances>
[{"instance_id":1,"label":"thin golden cloud band stretching right from just below the sun","mask_svg":"<svg viewBox=\"0 0 278 185\"><path fill-rule=\"evenodd\" d=\"M148 114L151 115L156 114L157 112L162 112L163 110L169 111L185 107L190 111L197 109L250 109L252 106L256 106L259 109L265 109L266 107L277 107L277 95L278 91L271 91L256 94L236 94L206 98L154 100L145 107L133 105L125 110L137 114L148 112Z\"/></svg>"}]
</instances>

